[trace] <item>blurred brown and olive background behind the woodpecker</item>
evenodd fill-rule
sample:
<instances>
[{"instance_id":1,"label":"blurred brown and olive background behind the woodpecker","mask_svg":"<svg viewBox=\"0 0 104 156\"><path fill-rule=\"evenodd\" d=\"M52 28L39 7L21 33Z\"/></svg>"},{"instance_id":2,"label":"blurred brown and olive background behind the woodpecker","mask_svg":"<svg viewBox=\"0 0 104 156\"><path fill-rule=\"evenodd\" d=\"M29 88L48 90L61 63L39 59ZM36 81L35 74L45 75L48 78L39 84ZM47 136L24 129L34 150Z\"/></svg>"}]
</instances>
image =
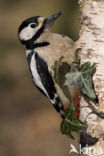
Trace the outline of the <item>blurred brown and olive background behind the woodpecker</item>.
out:
<instances>
[{"instance_id":1,"label":"blurred brown and olive background behind the woodpecker","mask_svg":"<svg viewBox=\"0 0 104 156\"><path fill-rule=\"evenodd\" d=\"M77 0L0 0L0 156L69 156L61 119L34 87L18 27L31 16L63 15L54 32L78 39ZM75 155L75 154L74 154ZM71 154L72 156L72 154Z\"/></svg>"}]
</instances>

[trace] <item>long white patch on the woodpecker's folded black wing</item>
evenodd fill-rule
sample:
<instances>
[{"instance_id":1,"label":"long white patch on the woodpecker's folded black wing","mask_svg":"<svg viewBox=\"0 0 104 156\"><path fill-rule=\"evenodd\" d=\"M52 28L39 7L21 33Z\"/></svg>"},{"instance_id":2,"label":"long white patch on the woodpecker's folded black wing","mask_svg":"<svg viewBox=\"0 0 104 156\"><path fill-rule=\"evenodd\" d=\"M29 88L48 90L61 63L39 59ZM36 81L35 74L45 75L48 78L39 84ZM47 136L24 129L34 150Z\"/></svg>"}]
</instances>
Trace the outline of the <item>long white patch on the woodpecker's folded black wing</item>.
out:
<instances>
[{"instance_id":1,"label":"long white patch on the woodpecker's folded black wing","mask_svg":"<svg viewBox=\"0 0 104 156\"><path fill-rule=\"evenodd\" d=\"M44 88L44 86L42 85L41 83L41 80L40 80L40 77L39 77L39 74L37 72L37 69L36 69L36 61L35 61L35 56L33 55L32 58L31 58L31 62L30 62L30 69L31 69L31 73L32 73L32 76L33 76L33 80L35 82L35 84L43 90L43 92L48 96L47 94L47 91L46 89Z\"/></svg>"}]
</instances>

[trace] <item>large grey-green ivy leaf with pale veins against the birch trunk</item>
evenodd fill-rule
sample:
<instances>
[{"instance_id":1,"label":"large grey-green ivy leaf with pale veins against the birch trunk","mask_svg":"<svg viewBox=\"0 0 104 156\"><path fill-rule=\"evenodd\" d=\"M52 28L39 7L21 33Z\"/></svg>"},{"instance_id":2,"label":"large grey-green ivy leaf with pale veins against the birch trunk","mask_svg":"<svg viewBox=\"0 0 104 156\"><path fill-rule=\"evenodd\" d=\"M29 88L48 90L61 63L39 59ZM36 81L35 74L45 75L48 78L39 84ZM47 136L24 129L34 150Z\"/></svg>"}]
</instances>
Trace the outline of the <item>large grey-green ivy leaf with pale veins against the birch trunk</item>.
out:
<instances>
[{"instance_id":1,"label":"large grey-green ivy leaf with pale veins against the birch trunk","mask_svg":"<svg viewBox=\"0 0 104 156\"><path fill-rule=\"evenodd\" d=\"M70 71L66 74L65 85L76 86L81 93L91 100L95 100L96 94L93 86L92 77L96 71L96 65L91 66L90 62L84 63L79 71Z\"/></svg>"}]
</instances>

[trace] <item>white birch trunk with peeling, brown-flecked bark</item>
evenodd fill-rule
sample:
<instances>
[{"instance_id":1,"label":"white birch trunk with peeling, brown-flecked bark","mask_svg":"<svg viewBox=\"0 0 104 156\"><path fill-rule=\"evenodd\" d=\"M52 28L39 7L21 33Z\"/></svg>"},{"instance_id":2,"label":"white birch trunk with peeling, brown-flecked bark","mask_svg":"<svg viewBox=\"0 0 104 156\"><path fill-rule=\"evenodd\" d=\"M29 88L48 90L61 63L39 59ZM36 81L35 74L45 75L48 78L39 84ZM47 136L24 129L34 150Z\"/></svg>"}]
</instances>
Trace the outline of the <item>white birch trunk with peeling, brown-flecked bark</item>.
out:
<instances>
[{"instance_id":1,"label":"white birch trunk with peeling, brown-flecked bark","mask_svg":"<svg viewBox=\"0 0 104 156\"><path fill-rule=\"evenodd\" d=\"M80 49L81 64L90 61L96 63L97 71L93 77L94 87L99 99L98 109L104 111L104 0L79 0L81 9L81 24L77 47ZM81 106L88 105L81 99ZM82 108L80 119L84 120L90 108ZM99 138L93 145L96 150L104 147L104 121L96 115L90 115L87 119L87 132ZM92 152L93 153L93 152ZM96 154L88 154L89 156ZM104 156L104 151L99 156ZM97 155L97 156L98 156Z\"/></svg>"}]
</instances>

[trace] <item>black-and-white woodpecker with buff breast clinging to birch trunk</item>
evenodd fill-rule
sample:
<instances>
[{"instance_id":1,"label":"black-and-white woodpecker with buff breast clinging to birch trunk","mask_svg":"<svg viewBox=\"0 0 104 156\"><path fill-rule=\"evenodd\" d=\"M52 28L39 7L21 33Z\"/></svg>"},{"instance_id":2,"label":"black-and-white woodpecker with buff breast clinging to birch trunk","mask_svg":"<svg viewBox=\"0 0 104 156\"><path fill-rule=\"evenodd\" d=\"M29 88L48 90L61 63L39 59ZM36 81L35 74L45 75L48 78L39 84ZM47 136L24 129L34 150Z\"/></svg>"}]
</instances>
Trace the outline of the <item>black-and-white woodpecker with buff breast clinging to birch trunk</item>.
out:
<instances>
[{"instance_id":1,"label":"black-and-white woodpecker with buff breast clinging to birch trunk","mask_svg":"<svg viewBox=\"0 0 104 156\"><path fill-rule=\"evenodd\" d=\"M64 86L65 74L74 62L76 45L69 37L52 33L57 12L43 18L34 16L24 20L19 29L20 42L26 49L26 57L35 86L50 100L57 112L64 118L64 106L76 97L74 87ZM63 56L59 69L60 82L56 84L52 66Z\"/></svg>"}]
</instances>

